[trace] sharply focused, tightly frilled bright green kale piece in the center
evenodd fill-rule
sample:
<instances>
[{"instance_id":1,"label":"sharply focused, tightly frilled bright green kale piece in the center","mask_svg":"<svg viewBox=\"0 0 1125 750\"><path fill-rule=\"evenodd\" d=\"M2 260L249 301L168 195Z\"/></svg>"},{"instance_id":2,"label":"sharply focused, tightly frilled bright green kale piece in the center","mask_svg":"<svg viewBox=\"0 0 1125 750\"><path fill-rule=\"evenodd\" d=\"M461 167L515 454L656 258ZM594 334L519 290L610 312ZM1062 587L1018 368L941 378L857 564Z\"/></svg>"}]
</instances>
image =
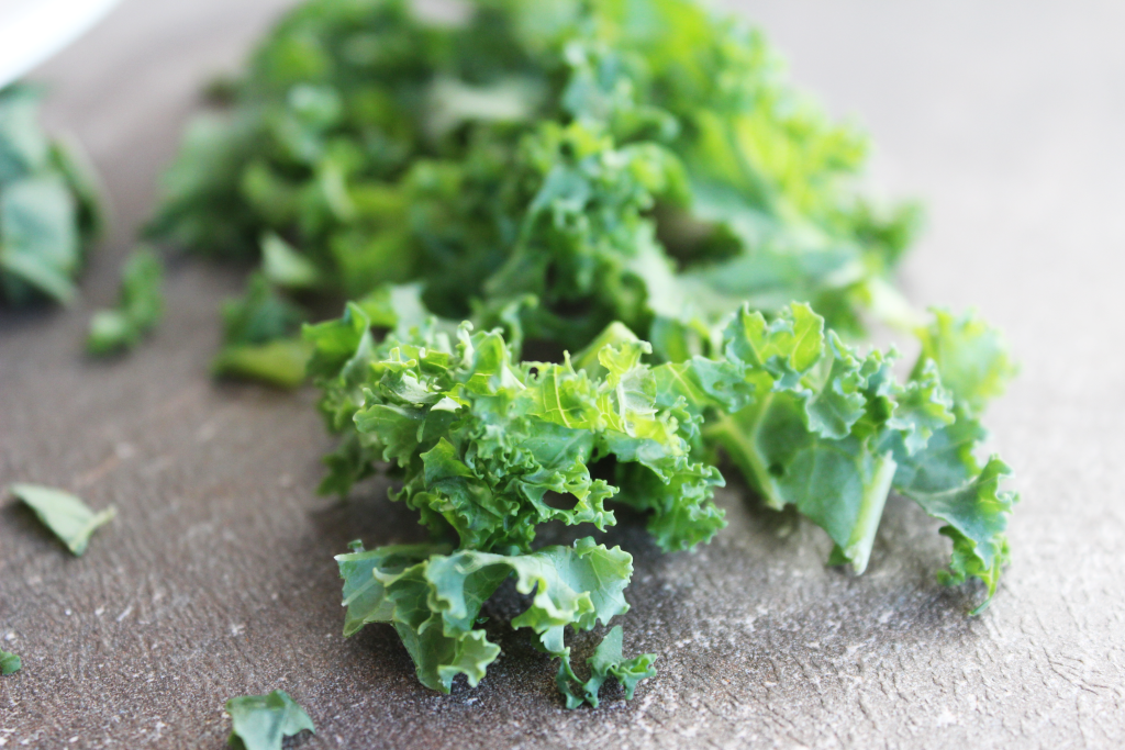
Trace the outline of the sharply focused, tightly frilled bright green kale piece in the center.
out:
<instances>
[{"instance_id":1,"label":"sharply focused, tightly frilled bright green kale piece in the center","mask_svg":"<svg viewBox=\"0 0 1125 750\"><path fill-rule=\"evenodd\" d=\"M374 461L389 461L402 471L396 498L435 533L456 532L468 549L528 550L541 523L613 524L605 501L618 488L590 471L613 458L634 464L621 476L638 487L623 497L651 512L665 549L706 541L723 525L712 503L721 476L692 454L698 418L657 403L644 342L602 347L604 374L591 378L569 362L515 363L498 332L465 325L456 345L443 332L412 332L375 347L357 305L306 329L314 369L338 369L320 380L321 408L345 434L325 489L346 490ZM573 506L554 507L549 495Z\"/></svg>"}]
</instances>

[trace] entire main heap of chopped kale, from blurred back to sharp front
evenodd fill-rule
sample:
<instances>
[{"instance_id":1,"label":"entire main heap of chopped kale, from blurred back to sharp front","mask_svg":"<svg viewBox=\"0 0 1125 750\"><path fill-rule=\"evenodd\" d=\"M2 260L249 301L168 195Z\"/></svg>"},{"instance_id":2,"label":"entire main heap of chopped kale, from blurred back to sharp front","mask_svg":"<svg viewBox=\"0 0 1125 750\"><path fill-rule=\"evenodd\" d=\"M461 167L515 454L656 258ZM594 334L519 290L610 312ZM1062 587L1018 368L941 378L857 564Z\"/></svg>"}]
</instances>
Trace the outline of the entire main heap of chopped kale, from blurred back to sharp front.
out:
<instances>
[{"instance_id":1,"label":"entire main heap of chopped kale, from blurred back to sharp front","mask_svg":"<svg viewBox=\"0 0 1125 750\"><path fill-rule=\"evenodd\" d=\"M586 680L565 641L626 612L631 558L539 526L601 533L620 503L691 549L723 526L723 461L856 572L909 497L952 541L942 579L994 594L1016 496L980 417L1015 368L973 314L929 324L896 291L918 210L861 193L865 139L760 34L693 0L476 0L458 22L308 0L231 100L150 228L260 262L216 371L312 377L340 435L322 491L386 470L432 534L338 558L345 634L390 624L424 685L476 685L511 577L568 706L632 695L655 657L620 627ZM871 318L920 338L906 380L856 347Z\"/></svg>"}]
</instances>

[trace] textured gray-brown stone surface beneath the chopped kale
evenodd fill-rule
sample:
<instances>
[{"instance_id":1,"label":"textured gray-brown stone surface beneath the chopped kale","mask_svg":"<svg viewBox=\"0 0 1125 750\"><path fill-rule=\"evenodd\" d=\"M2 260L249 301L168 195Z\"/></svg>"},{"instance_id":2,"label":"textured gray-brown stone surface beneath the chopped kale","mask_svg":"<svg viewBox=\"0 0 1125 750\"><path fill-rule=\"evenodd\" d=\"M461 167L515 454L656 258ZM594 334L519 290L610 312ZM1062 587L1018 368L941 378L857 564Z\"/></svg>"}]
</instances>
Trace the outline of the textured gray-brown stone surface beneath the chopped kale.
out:
<instances>
[{"instance_id":1,"label":"textured gray-brown stone surface beneath the chopped kale","mask_svg":"<svg viewBox=\"0 0 1125 750\"><path fill-rule=\"evenodd\" d=\"M219 748L227 697L288 690L308 748L1113 748L1125 744L1125 8L1118 2L734 3L795 76L856 114L873 184L924 198L911 298L978 305L1023 377L990 414L1024 500L991 609L934 581L936 524L892 501L870 571L732 488L730 526L658 555L637 524L626 647L660 654L634 701L565 712L519 635L477 689L422 688L393 633L340 636L332 554L416 536L375 485L314 495L328 445L295 396L207 374L232 274L173 269L169 315L134 356L84 360L207 75L231 70L273 0L130 0L38 73L53 124L105 175L116 229L70 310L0 314L0 484L79 491L116 522L71 559L0 506L7 748ZM1116 342L1116 343L1115 343ZM497 609L513 606L502 600Z\"/></svg>"}]
</instances>

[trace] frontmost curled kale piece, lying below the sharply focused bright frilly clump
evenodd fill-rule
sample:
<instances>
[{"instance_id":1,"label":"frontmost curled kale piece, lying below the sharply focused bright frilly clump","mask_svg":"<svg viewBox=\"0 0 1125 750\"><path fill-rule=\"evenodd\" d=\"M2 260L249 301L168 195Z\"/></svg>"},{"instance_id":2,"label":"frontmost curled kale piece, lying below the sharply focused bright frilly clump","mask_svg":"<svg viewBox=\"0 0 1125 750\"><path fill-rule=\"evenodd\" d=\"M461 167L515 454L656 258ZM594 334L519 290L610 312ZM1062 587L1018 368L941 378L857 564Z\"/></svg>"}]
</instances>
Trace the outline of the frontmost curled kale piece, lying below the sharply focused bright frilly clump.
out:
<instances>
[{"instance_id":1,"label":"frontmost curled kale piece, lying below the sharply focused bright frilly clump","mask_svg":"<svg viewBox=\"0 0 1125 750\"><path fill-rule=\"evenodd\" d=\"M574 546L513 555L447 550L392 545L366 551L356 543L351 553L336 558L348 607L344 635L368 623L393 624L414 660L418 680L442 693L449 693L457 675L476 686L500 656L500 647L476 624L484 603L511 576L515 576L516 590L531 596L530 606L512 620L512 627L531 629L539 647L562 659L567 669L567 626L591 630L629 609L622 593L632 576L632 558L590 537ZM623 661L620 629L614 630L615 656L609 649L595 671L602 680L610 674L618 676L631 694L639 679L655 674L649 669L652 657ZM592 696L591 703L597 705L596 687Z\"/></svg>"}]
</instances>

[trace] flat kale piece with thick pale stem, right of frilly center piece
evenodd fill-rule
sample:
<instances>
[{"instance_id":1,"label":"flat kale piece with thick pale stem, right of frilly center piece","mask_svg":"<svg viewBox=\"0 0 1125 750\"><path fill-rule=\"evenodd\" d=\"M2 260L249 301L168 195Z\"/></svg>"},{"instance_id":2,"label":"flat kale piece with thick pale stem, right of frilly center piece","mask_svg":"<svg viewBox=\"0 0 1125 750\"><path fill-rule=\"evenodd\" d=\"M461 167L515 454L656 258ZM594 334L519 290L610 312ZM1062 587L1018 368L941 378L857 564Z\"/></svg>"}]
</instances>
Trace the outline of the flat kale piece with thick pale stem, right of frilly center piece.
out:
<instances>
[{"instance_id":1,"label":"flat kale piece with thick pale stem, right of frilly center piece","mask_svg":"<svg viewBox=\"0 0 1125 750\"><path fill-rule=\"evenodd\" d=\"M892 355L860 356L811 309L793 305L768 323L744 308L723 333L722 351L742 368L755 398L732 413L713 404L720 409L704 436L767 505L795 505L836 542L834 562L862 572L893 489L950 524L948 580L974 576L994 593L1015 503L998 491L1007 467L994 458L978 466L983 431L962 395L943 387L944 371L925 350L899 385Z\"/></svg>"}]
</instances>

